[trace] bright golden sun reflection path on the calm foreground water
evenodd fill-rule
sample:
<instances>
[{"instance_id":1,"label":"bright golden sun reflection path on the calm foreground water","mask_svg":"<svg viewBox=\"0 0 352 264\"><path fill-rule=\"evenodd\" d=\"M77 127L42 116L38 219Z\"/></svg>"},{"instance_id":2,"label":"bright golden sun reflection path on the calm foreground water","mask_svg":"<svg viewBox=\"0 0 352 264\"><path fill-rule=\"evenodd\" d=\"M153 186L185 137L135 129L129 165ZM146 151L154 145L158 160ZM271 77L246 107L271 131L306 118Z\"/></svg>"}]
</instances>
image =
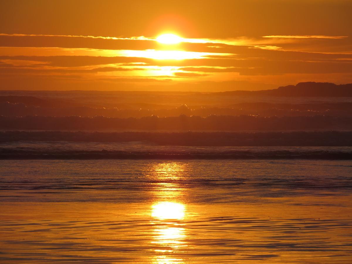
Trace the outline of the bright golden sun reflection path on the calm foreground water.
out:
<instances>
[{"instance_id":1,"label":"bright golden sun reflection path on the calm foreground water","mask_svg":"<svg viewBox=\"0 0 352 264\"><path fill-rule=\"evenodd\" d=\"M156 180L175 181L180 179L183 167L180 163L159 163L152 168L152 175ZM158 199L151 205L151 216L156 219L153 230L152 244L158 247L154 250L155 264L181 264L183 259L173 258L172 253L187 247L185 238L186 230L182 227L186 215L186 205L181 203L178 196L181 195L177 183L157 183Z\"/></svg>"}]
</instances>

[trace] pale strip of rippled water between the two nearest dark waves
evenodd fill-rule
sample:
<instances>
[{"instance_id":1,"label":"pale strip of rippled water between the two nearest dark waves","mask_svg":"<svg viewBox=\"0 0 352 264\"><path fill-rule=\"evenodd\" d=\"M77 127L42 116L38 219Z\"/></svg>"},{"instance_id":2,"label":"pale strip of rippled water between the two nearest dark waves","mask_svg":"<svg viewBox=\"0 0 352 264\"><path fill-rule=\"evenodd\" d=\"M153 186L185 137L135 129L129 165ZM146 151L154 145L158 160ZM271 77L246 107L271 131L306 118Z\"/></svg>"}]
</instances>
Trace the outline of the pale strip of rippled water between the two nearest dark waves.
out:
<instances>
[{"instance_id":1,"label":"pale strip of rippled water between the two nearest dark waves","mask_svg":"<svg viewBox=\"0 0 352 264\"><path fill-rule=\"evenodd\" d=\"M0 151L65 153L68 151L120 151L128 153L231 153L231 152L351 152L351 146L170 146L147 141L132 142L69 142L69 141L13 141L0 142Z\"/></svg>"}]
</instances>

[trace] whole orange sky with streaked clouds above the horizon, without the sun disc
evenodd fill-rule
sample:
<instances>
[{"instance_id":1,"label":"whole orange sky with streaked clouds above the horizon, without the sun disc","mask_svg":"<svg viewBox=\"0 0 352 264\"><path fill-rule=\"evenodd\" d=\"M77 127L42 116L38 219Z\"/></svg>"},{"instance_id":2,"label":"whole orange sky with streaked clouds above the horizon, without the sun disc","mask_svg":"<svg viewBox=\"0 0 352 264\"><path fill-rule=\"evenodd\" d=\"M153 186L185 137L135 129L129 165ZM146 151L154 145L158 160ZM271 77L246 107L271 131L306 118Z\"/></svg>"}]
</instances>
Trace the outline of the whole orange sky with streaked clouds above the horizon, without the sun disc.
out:
<instances>
[{"instance_id":1,"label":"whole orange sky with streaked clouds above the horizon, without the sun disc","mask_svg":"<svg viewBox=\"0 0 352 264\"><path fill-rule=\"evenodd\" d=\"M1 1L0 89L352 82L352 1ZM164 33L180 37L164 44Z\"/></svg>"}]
</instances>

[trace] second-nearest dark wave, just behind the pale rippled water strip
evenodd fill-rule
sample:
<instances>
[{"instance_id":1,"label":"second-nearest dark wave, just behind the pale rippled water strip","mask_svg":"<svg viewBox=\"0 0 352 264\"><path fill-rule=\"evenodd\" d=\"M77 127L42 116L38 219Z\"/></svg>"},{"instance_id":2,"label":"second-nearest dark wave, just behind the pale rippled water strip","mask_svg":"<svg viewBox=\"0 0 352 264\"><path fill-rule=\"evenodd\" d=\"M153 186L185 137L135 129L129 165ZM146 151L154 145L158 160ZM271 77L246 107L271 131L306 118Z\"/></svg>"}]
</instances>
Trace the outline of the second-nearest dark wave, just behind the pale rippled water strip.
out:
<instances>
[{"instance_id":1,"label":"second-nearest dark wave, just behind the pale rippled water strip","mask_svg":"<svg viewBox=\"0 0 352 264\"><path fill-rule=\"evenodd\" d=\"M147 142L172 146L352 146L352 131L89 132L2 131L0 143ZM37 144L36 143L36 144Z\"/></svg>"}]
</instances>

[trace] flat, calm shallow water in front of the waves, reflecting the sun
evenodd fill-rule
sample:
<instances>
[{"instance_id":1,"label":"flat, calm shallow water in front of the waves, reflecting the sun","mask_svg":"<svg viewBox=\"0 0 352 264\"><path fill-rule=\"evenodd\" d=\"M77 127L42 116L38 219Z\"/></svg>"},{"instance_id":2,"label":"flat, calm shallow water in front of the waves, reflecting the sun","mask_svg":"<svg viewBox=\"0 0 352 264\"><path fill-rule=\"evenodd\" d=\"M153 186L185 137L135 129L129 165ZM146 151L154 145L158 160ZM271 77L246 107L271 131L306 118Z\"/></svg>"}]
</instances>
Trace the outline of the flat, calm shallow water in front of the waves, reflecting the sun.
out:
<instances>
[{"instance_id":1,"label":"flat, calm shallow water in front of the waves, reflecting the sun","mask_svg":"<svg viewBox=\"0 0 352 264\"><path fill-rule=\"evenodd\" d=\"M0 161L4 263L351 263L352 164Z\"/></svg>"}]
</instances>

